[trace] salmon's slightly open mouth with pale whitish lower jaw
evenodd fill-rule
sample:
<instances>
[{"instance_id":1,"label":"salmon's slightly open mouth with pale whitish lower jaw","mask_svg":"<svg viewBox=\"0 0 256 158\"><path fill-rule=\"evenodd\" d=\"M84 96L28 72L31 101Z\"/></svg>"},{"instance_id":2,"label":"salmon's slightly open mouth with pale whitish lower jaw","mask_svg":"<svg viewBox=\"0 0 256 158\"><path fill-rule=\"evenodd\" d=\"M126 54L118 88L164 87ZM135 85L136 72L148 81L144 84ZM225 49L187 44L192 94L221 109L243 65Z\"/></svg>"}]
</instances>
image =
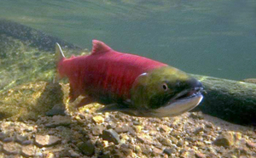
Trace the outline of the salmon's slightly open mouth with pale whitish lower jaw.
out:
<instances>
[{"instance_id":1,"label":"salmon's slightly open mouth with pale whitish lower jaw","mask_svg":"<svg viewBox=\"0 0 256 158\"><path fill-rule=\"evenodd\" d=\"M200 104L203 99L201 94L202 90L203 87L193 87L177 93L164 106L154 110L154 116L178 116L184 112L194 109L195 106Z\"/></svg>"}]
</instances>

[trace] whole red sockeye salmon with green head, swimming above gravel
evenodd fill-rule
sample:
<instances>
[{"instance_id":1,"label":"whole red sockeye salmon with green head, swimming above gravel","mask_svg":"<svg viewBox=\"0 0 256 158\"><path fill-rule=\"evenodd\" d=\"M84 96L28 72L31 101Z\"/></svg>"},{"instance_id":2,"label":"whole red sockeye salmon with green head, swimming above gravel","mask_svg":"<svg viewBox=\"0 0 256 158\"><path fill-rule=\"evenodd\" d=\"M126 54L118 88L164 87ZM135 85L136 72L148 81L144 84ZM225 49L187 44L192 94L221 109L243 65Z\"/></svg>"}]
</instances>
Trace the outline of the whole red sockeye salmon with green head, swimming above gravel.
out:
<instances>
[{"instance_id":1,"label":"whole red sockeye salmon with green head, swimming above gravel","mask_svg":"<svg viewBox=\"0 0 256 158\"><path fill-rule=\"evenodd\" d=\"M131 116L177 116L200 104L202 85L170 65L120 53L93 40L91 54L65 58L56 43L55 80L67 76L69 98L84 96L76 107L99 103L97 112L120 111Z\"/></svg>"}]
</instances>

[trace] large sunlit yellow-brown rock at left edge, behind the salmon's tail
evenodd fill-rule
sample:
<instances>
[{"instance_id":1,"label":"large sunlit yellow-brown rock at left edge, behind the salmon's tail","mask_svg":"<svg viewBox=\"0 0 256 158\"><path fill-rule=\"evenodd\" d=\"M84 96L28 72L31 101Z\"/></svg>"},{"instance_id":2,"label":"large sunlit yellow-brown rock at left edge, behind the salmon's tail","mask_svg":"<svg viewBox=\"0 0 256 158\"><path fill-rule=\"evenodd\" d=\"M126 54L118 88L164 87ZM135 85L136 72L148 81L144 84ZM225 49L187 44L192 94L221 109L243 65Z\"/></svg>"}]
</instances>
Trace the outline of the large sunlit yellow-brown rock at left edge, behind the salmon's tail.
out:
<instances>
[{"instance_id":1,"label":"large sunlit yellow-brown rock at left edge, behind the salmon's tail","mask_svg":"<svg viewBox=\"0 0 256 158\"><path fill-rule=\"evenodd\" d=\"M55 104L63 104L63 95L59 83L31 82L10 88L0 93L3 99L0 120L11 117L19 121L36 121L38 116L44 116Z\"/></svg>"}]
</instances>

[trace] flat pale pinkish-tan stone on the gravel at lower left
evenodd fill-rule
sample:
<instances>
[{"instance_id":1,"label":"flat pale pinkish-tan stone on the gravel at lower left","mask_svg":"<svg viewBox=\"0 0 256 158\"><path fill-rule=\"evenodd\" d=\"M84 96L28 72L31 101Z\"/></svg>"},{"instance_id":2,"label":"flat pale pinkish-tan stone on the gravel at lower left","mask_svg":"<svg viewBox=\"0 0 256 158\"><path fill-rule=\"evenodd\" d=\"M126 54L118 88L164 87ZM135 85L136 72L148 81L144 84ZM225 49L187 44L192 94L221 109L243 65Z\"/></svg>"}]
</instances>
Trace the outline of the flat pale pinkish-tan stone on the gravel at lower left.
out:
<instances>
[{"instance_id":1,"label":"flat pale pinkish-tan stone on the gravel at lower left","mask_svg":"<svg viewBox=\"0 0 256 158\"><path fill-rule=\"evenodd\" d=\"M55 144L60 144L61 138L57 138L55 136L50 135L36 135L35 138L35 144L38 145L38 147L49 147L53 146Z\"/></svg>"}]
</instances>

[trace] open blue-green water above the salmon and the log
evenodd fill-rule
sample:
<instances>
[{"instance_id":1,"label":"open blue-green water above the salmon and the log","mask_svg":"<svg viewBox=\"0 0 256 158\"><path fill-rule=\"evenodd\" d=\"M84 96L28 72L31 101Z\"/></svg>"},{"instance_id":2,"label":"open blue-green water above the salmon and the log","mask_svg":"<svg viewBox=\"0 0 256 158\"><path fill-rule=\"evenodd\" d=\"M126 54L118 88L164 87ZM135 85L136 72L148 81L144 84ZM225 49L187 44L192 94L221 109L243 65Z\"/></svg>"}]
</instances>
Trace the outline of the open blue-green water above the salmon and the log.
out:
<instances>
[{"instance_id":1,"label":"open blue-green water above the salmon and the log","mask_svg":"<svg viewBox=\"0 0 256 158\"><path fill-rule=\"evenodd\" d=\"M255 0L0 0L0 18L83 48L102 40L189 73L256 77Z\"/></svg>"}]
</instances>

